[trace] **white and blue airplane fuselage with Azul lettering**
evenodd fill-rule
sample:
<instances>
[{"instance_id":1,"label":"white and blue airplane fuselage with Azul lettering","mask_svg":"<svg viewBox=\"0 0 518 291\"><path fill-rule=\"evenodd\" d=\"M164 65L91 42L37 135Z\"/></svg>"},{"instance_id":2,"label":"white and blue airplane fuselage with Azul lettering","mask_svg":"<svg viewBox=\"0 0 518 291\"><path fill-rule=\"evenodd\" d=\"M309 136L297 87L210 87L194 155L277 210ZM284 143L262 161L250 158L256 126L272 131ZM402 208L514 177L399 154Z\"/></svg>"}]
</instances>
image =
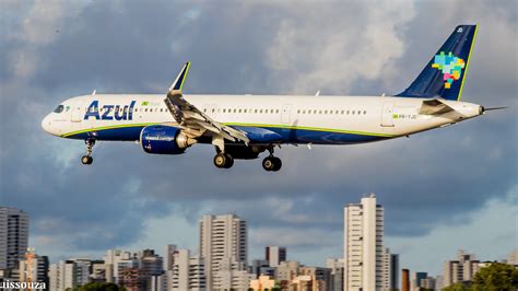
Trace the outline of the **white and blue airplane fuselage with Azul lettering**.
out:
<instances>
[{"instance_id":1,"label":"white and blue airplane fuselage with Azul lettering","mask_svg":"<svg viewBox=\"0 0 518 291\"><path fill-rule=\"evenodd\" d=\"M469 119L481 106L443 101L455 110L423 115L423 98L393 96L184 95L214 120L232 127L282 131L285 143L345 144L408 136ZM55 136L139 140L148 125L177 126L165 95L97 94L61 103L42 123ZM93 104L97 102L97 104ZM93 106L95 105L95 106Z\"/></svg>"}]
</instances>

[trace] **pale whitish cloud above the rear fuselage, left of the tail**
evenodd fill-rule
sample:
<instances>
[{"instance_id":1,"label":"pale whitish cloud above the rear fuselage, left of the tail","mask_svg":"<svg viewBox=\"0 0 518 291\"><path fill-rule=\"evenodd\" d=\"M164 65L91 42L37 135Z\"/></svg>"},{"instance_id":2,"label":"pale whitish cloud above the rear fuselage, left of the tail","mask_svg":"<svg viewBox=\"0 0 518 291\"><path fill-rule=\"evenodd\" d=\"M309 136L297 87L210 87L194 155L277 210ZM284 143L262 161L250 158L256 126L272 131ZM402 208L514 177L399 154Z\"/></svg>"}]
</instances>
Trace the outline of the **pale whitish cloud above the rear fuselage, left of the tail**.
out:
<instances>
[{"instance_id":1,"label":"pale whitish cloud above the rear fuselage, left of the tail","mask_svg":"<svg viewBox=\"0 0 518 291\"><path fill-rule=\"evenodd\" d=\"M296 93L348 93L358 79L391 78L403 54L401 28L415 15L412 1L284 7L269 66ZM390 18L387 18L390 15ZM377 92L376 92L377 93Z\"/></svg>"}]
</instances>

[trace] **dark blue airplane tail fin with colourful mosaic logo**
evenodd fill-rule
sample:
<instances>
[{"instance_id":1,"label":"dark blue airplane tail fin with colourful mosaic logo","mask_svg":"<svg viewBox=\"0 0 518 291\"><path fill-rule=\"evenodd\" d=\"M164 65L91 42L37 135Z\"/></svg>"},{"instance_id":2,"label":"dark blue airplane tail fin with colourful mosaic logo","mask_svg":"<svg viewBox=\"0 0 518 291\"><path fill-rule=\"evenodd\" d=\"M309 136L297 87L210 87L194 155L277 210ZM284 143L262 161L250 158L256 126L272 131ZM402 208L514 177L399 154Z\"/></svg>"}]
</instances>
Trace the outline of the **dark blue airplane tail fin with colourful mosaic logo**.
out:
<instances>
[{"instance_id":1,"label":"dark blue airplane tail fin with colourful mosaic logo","mask_svg":"<svg viewBox=\"0 0 518 291\"><path fill-rule=\"evenodd\" d=\"M470 63L478 25L459 25L424 67L402 97L459 101Z\"/></svg>"}]
</instances>

